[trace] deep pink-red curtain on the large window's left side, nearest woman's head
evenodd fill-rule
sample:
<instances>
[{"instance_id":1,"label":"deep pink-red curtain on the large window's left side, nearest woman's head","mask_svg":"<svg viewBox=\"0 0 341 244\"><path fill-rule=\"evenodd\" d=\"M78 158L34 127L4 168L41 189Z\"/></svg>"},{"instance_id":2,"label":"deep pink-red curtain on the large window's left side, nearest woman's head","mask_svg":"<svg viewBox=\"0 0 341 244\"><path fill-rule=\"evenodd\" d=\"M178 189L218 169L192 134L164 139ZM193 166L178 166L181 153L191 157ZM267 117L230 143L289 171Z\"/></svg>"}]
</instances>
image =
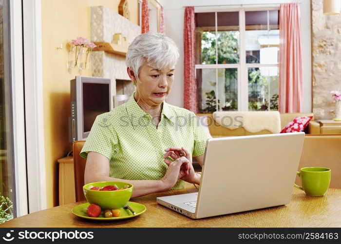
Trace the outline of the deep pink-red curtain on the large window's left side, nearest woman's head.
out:
<instances>
[{"instance_id":1,"label":"deep pink-red curtain on the large window's left side, nearest woman's head","mask_svg":"<svg viewBox=\"0 0 341 244\"><path fill-rule=\"evenodd\" d=\"M197 113L194 7L185 8L184 55L184 108Z\"/></svg>"}]
</instances>

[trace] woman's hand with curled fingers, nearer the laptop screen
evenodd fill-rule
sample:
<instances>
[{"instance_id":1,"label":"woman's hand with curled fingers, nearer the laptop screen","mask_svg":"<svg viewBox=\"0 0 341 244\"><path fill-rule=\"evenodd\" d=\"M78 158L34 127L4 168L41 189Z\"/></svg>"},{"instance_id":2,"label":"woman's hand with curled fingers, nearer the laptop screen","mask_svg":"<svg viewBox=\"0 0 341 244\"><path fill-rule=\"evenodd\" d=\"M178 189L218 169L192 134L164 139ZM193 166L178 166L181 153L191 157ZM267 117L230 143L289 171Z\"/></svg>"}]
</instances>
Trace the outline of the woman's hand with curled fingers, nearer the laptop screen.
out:
<instances>
[{"instance_id":1,"label":"woman's hand with curled fingers, nearer the laptop screen","mask_svg":"<svg viewBox=\"0 0 341 244\"><path fill-rule=\"evenodd\" d=\"M165 149L165 151L166 153L163 155L163 157L165 158L164 161L167 165L172 163L172 161L167 159L168 157L171 157L173 160L186 157L186 159L189 161L188 164L183 165L181 167L181 170L183 172L188 172L184 174L182 177L180 177L181 180L186 181L188 183L195 183L195 184L200 183L200 176L197 173L195 173L190 154L184 147L169 147Z\"/></svg>"}]
</instances>

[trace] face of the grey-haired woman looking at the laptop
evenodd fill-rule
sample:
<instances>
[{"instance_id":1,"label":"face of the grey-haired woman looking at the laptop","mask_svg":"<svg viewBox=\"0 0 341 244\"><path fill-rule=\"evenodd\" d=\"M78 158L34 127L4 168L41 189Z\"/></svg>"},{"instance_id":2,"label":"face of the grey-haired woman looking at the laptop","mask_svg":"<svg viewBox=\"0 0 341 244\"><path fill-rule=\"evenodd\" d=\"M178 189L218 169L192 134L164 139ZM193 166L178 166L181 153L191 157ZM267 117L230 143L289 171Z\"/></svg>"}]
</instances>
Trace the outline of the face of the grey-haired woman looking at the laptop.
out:
<instances>
[{"instance_id":1,"label":"face of the grey-haired woman looking at the laptop","mask_svg":"<svg viewBox=\"0 0 341 244\"><path fill-rule=\"evenodd\" d=\"M159 70L144 63L136 81L139 98L149 105L159 105L170 94L174 81L174 67Z\"/></svg>"}]
</instances>

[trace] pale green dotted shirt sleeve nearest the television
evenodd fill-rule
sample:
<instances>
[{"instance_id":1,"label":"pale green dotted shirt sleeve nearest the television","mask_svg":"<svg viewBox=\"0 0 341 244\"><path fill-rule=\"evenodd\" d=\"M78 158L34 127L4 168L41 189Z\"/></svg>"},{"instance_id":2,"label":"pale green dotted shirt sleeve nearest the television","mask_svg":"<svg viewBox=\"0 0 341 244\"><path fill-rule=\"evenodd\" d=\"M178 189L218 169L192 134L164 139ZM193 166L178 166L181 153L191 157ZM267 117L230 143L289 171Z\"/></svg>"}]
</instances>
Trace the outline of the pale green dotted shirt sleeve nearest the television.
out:
<instances>
[{"instance_id":1,"label":"pale green dotted shirt sleeve nearest the television","mask_svg":"<svg viewBox=\"0 0 341 244\"><path fill-rule=\"evenodd\" d=\"M117 149L116 132L103 114L98 115L79 155L87 159L89 152L97 152L111 160Z\"/></svg>"}]
</instances>

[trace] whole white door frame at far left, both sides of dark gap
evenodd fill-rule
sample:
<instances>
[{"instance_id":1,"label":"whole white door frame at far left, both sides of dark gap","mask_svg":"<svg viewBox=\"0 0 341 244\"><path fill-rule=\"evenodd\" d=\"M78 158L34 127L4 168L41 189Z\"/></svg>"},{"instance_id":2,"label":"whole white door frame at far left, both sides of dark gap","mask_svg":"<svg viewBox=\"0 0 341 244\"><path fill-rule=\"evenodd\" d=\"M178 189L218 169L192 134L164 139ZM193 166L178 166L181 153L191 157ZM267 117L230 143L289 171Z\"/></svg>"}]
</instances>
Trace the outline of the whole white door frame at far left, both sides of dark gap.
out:
<instances>
[{"instance_id":1,"label":"whole white door frame at far left, both sides of dark gap","mask_svg":"<svg viewBox=\"0 0 341 244\"><path fill-rule=\"evenodd\" d=\"M4 58L12 93L15 217L46 209L41 0L4 0L9 46ZM24 41L23 41L24 40ZM6 40L4 40L6 41ZM29 142L29 143L26 143Z\"/></svg>"}]
</instances>

